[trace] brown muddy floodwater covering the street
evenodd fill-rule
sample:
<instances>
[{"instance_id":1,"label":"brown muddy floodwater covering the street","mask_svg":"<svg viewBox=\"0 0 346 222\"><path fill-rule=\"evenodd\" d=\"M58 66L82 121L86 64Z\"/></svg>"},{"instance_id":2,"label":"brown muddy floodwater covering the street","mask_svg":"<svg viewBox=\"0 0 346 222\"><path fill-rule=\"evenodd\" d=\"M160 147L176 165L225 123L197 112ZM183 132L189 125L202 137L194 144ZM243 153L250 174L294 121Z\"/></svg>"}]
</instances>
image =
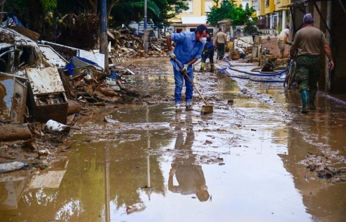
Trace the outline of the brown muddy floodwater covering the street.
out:
<instances>
[{"instance_id":1,"label":"brown muddy floodwater covering the street","mask_svg":"<svg viewBox=\"0 0 346 222\"><path fill-rule=\"evenodd\" d=\"M136 64L141 74L128 87L173 95L168 61ZM345 167L344 106L319 96L303 115L299 94L281 84L222 74L195 81L214 113L200 115L197 102L176 115L173 101L95 111L50 176L1 178L1 221L345 221L346 184L302 163L323 153Z\"/></svg>"}]
</instances>

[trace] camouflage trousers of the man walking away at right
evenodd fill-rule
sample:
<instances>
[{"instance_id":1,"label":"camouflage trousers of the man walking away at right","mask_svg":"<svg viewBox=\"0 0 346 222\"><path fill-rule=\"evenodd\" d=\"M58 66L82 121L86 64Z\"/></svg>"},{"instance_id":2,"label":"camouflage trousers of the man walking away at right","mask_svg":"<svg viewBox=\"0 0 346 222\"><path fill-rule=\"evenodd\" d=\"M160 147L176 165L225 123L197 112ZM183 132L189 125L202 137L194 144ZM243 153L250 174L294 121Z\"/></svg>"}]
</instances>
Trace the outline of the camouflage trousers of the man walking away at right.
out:
<instances>
[{"instance_id":1,"label":"camouflage trousers of the man walking away at right","mask_svg":"<svg viewBox=\"0 0 346 222\"><path fill-rule=\"evenodd\" d=\"M317 82L320 79L320 56L298 56L296 80L299 91L317 92Z\"/></svg>"}]
</instances>

